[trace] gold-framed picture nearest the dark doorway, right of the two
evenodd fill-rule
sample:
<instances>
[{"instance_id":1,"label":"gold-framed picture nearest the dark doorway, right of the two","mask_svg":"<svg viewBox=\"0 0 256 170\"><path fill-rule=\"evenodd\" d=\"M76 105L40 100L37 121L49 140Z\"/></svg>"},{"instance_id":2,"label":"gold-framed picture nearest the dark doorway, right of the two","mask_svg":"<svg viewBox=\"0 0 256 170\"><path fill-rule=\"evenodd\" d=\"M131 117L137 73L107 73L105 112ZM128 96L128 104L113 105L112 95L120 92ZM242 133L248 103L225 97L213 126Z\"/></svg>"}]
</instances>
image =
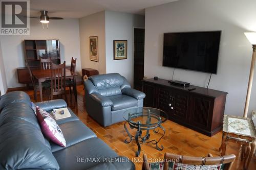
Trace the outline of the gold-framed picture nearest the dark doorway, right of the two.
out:
<instances>
[{"instance_id":1,"label":"gold-framed picture nearest the dark doorway, right of the two","mask_svg":"<svg viewBox=\"0 0 256 170\"><path fill-rule=\"evenodd\" d=\"M127 40L114 40L114 60L127 59Z\"/></svg>"}]
</instances>

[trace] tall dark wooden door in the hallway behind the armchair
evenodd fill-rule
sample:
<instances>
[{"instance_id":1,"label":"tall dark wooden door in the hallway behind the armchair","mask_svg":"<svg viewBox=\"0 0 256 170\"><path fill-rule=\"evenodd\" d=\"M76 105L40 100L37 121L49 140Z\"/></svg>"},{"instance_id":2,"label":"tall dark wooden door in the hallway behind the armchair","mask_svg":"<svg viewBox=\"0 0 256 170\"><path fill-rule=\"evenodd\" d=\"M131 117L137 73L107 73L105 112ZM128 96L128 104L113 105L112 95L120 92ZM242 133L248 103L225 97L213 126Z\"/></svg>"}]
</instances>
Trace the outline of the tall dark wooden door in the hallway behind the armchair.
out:
<instances>
[{"instance_id":1,"label":"tall dark wooden door in the hallway behind the armchair","mask_svg":"<svg viewBox=\"0 0 256 170\"><path fill-rule=\"evenodd\" d=\"M134 74L133 86L142 90L142 79L144 77L144 38L145 29L134 29Z\"/></svg>"}]
</instances>

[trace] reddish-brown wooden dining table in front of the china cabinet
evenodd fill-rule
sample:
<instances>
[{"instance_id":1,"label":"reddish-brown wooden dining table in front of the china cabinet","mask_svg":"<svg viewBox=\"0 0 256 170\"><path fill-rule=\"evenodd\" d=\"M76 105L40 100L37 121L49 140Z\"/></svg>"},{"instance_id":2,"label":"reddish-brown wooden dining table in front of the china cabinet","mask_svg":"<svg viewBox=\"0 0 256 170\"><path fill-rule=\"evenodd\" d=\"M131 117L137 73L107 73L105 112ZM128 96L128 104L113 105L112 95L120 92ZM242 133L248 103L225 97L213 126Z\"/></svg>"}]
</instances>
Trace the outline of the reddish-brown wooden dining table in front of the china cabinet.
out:
<instances>
[{"instance_id":1,"label":"reddish-brown wooden dining table in front of the china cabinet","mask_svg":"<svg viewBox=\"0 0 256 170\"><path fill-rule=\"evenodd\" d=\"M36 69L32 69L31 71L33 76L38 80L40 100L42 102L42 82L46 80L51 80L51 69L36 68ZM75 72L72 72L71 70L66 68L66 78L73 79L74 81L73 91L75 95L75 102L77 104L76 76L77 74Z\"/></svg>"}]
</instances>

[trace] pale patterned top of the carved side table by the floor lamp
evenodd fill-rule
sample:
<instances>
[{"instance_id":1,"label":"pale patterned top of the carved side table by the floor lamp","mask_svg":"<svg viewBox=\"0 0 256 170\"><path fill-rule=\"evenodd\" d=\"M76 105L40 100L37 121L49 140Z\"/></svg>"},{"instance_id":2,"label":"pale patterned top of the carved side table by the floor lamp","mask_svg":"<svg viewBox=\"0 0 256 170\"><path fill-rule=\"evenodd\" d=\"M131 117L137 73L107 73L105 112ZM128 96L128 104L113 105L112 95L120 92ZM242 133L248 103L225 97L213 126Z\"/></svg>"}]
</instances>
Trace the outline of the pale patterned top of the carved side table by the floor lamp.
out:
<instances>
[{"instance_id":1,"label":"pale patterned top of the carved side table by the floor lamp","mask_svg":"<svg viewBox=\"0 0 256 170\"><path fill-rule=\"evenodd\" d=\"M223 131L236 135L256 137L254 124L247 117L224 115Z\"/></svg>"}]
</instances>

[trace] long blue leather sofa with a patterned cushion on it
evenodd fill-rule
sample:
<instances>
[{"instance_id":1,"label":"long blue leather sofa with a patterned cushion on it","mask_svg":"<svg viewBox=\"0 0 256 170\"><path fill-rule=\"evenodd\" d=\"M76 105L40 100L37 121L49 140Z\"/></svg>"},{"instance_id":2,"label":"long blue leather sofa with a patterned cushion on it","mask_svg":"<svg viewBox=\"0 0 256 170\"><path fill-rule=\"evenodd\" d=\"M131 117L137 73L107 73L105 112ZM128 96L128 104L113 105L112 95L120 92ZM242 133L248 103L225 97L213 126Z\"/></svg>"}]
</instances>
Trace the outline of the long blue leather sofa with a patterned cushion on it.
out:
<instances>
[{"instance_id":1,"label":"long blue leather sofa with a patterned cushion on it","mask_svg":"<svg viewBox=\"0 0 256 170\"><path fill-rule=\"evenodd\" d=\"M51 113L67 107L63 100L35 103ZM72 117L57 120L67 147L41 133L30 98L22 91L0 98L0 169L135 169L119 157L70 110Z\"/></svg>"}]
</instances>

